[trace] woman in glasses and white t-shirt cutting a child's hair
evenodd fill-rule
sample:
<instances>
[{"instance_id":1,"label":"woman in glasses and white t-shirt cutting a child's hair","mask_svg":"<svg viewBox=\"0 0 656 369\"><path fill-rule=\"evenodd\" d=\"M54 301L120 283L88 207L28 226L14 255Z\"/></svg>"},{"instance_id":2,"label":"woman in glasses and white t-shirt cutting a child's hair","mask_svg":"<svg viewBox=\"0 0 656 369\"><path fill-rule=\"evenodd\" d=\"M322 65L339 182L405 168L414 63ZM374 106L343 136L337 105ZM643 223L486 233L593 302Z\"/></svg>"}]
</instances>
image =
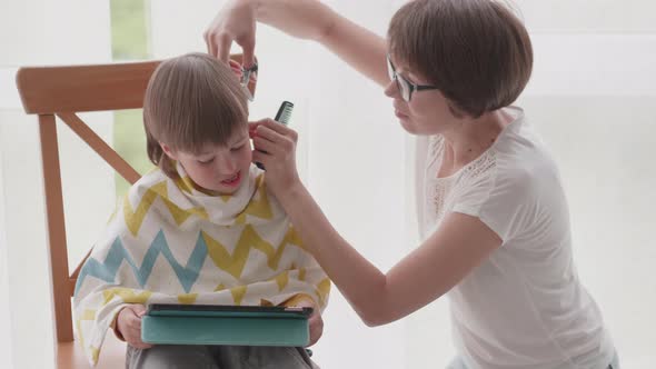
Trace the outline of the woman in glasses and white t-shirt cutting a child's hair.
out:
<instances>
[{"instance_id":1,"label":"woman in glasses and white t-shirt cutting a child's hair","mask_svg":"<svg viewBox=\"0 0 656 369\"><path fill-rule=\"evenodd\" d=\"M254 126L254 160L308 249L368 326L449 296L459 356L451 368L618 368L599 309L571 256L558 170L521 109L530 77L521 22L489 0L416 0L384 40L316 1L228 3L206 32L226 60L252 61L255 22L312 39L386 88L420 137L423 243L380 272L330 226L300 182L296 132ZM262 152L264 151L264 152Z\"/></svg>"}]
</instances>

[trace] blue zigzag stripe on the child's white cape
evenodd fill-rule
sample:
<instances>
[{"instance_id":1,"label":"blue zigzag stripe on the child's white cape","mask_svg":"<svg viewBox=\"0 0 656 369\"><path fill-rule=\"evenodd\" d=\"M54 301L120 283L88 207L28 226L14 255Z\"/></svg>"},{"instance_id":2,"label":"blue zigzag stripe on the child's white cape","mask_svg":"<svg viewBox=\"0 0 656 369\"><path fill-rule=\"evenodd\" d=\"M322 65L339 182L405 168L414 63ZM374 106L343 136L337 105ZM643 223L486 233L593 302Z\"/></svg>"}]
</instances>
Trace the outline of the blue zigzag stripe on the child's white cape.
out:
<instances>
[{"instance_id":1,"label":"blue zigzag stripe on the child's white cape","mask_svg":"<svg viewBox=\"0 0 656 369\"><path fill-rule=\"evenodd\" d=\"M150 243L150 247L143 257L141 267L137 267L135 260L132 260L132 257L117 237L117 239L111 245L103 262L100 262L91 257L87 259L85 266L82 266L82 269L80 270L80 275L76 283L76 293L88 276L96 277L108 283L115 283L116 273L123 260L130 265L132 271L135 272L135 277L137 277L141 288L143 288L148 281L148 278L150 277L152 266L160 253L169 261L169 265L173 268L173 271L178 276L180 285L182 285L182 288L188 293L191 289L191 286L193 286L198 279L200 268L202 268L205 259L207 258L207 245L202 239L202 235L199 233L198 240L196 241L196 247L189 257L189 261L187 262L186 267L182 267L176 260L176 258L173 258L171 249L169 248L169 245L167 243L167 240L161 230L159 233L157 233L152 243Z\"/></svg>"}]
</instances>

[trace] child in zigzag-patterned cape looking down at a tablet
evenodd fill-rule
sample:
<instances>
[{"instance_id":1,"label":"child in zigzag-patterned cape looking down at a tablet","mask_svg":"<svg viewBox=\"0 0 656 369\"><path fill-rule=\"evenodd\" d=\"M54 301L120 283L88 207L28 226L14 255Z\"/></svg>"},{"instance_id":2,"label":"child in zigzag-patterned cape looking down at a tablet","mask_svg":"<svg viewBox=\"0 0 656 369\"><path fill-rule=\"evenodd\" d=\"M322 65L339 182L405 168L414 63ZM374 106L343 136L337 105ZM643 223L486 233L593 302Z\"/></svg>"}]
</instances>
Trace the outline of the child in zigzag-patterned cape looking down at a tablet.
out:
<instances>
[{"instance_id":1,"label":"child in zigzag-patterned cape looking down at a tablet","mask_svg":"<svg viewBox=\"0 0 656 369\"><path fill-rule=\"evenodd\" d=\"M209 56L166 60L152 74L143 123L159 168L130 188L76 286L78 338L92 365L111 327L129 343L128 368L311 367L299 348L153 347L140 338L155 302L310 306L310 325L320 323L330 282L251 163L247 118L237 77Z\"/></svg>"}]
</instances>

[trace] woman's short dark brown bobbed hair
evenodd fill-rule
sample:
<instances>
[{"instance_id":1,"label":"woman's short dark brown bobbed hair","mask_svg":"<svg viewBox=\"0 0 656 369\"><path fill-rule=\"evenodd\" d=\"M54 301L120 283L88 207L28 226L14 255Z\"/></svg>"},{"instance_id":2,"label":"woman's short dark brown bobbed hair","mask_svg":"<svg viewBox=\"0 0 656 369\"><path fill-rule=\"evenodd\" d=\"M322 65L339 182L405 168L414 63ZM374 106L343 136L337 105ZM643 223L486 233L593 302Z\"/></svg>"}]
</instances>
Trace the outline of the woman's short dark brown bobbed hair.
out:
<instances>
[{"instance_id":1,"label":"woman's short dark brown bobbed hair","mask_svg":"<svg viewBox=\"0 0 656 369\"><path fill-rule=\"evenodd\" d=\"M389 53L429 79L456 116L513 103L533 69L526 28L494 0L415 0L389 24Z\"/></svg>"}]
</instances>

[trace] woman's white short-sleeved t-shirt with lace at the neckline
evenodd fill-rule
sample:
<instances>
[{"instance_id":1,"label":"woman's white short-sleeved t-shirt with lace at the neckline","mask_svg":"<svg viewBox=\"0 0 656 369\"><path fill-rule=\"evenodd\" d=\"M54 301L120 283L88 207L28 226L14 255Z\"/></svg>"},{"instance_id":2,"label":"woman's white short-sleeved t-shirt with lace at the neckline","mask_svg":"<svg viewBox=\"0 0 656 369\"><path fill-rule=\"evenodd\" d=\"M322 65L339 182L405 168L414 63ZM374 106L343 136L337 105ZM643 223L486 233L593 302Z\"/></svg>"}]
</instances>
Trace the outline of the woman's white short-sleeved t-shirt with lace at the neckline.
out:
<instances>
[{"instance_id":1,"label":"woman's white short-sleeved t-shirt with lace at the neckline","mask_svg":"<svg viewBox=\"0 0 656 369\"><path fill-rule=\"evenodd\" d=\"M515 120L450 177L437 178L444 139L418 142L421 237L461 212L503 240L448 292L456 348L470 369L606 368L615 350L573 262L558 170L524 112L507 110Z\"/></svg>"}]
</instances>

